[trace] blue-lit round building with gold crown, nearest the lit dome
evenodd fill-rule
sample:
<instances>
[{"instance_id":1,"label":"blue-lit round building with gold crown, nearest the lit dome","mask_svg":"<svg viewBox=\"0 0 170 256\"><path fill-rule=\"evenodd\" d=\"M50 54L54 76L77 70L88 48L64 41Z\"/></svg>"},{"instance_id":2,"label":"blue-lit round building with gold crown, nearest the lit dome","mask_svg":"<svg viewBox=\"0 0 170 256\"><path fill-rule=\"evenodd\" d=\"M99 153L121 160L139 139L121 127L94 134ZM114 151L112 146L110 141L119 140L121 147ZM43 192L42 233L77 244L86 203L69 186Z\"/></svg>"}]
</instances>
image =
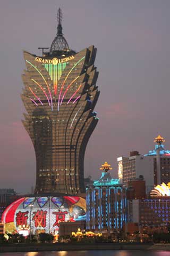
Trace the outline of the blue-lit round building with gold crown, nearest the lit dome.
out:
<instances>
[{"instance_id":1,"label":"blue-lit round building with gold crown, nearest the lit dome","mask_svg":"<svg viewBox=\"0 0 170 256\"><path fill-rule=\"evenodd\" d=\"M101 178L86 189L86 228L111 234L126 222L126 195L118 179L112 179L107 162L100 168Z\"/></svg>"}]
</instances>

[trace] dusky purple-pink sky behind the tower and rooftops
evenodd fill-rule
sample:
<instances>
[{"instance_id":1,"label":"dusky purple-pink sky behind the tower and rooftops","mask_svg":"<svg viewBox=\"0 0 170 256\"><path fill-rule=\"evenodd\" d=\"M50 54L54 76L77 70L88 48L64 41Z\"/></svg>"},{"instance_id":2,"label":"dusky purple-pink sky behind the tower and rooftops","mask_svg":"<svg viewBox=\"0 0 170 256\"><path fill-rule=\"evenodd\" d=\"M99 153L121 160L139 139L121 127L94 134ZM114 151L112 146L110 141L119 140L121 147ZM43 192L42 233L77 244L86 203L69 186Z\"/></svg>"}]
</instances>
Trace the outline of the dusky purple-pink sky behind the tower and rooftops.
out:
<instances>
[{"instance_id":1,"label":"dusky purple-pink sky behind the tower and rooftops","mask_svg":"<svg viewBox=\"0 0 170 256\"><path fill-rule=\"evenodd\" d=\"M21 123L22 50L40 54L39 46L50 46L58 7L71 49L97 47L100 119L86 150L86 176L97 179L107 161L116 177L117 156L147 153L158 133L170 149L169 0L5 0L0 9L0 187L19 193L30 192L36 180L35 153Z\"/></svg>"}]
</instances>

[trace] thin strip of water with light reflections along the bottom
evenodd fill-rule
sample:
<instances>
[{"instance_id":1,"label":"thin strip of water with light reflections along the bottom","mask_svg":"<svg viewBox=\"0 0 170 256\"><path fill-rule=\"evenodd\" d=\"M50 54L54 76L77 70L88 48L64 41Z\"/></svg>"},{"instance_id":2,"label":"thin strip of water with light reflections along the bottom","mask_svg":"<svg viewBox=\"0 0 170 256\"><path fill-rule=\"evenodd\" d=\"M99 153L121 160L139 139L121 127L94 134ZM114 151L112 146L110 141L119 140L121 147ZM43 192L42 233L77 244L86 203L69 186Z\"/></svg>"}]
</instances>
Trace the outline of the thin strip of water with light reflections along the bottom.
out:
<instances>
[{"instance_id":1,"label":"thin strip of water with light reflections along the bottom","mask_svg":"<svg viewBox=\"0 0 170 256\"><path fill-rule=\"evenodd\" d=\"M169 256L169 251L60 251L60 252L6 252L0 256Z\"/></svg>"}]
</instances>

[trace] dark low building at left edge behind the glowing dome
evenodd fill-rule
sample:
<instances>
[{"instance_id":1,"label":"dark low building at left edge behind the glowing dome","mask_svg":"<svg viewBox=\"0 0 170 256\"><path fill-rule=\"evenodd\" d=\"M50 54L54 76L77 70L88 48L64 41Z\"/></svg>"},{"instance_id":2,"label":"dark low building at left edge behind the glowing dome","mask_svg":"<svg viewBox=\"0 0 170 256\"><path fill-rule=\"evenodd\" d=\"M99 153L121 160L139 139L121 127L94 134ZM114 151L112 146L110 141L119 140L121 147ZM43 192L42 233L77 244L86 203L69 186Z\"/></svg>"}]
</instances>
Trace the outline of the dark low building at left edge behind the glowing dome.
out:
<instances>
[{"instance_id":1,"label":"dark low building at left edge behind the glowing dome","mask_svg":"<svg viewBox=\"0 0 170 256\"><path fill-rule=\"evenodd\" d=\"M13 188L0 189L0 222L6 207L16 199L16 192Z\"/></svg>"}]
</instances>

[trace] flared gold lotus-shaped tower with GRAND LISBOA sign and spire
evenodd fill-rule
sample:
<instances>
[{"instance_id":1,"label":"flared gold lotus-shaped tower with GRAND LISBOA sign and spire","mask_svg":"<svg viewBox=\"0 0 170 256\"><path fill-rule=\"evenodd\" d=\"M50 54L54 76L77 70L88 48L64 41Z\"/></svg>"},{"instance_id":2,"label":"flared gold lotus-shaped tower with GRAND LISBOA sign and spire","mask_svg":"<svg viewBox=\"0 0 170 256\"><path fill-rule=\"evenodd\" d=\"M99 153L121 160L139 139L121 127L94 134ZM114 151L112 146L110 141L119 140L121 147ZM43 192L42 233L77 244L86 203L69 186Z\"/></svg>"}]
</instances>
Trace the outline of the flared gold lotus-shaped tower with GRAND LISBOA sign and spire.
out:
<instances>
[{"instance_id":1,"label":"flared gold lotus-shaped tower with GRAND LISBOA sign and spire","mask_svg":"<svg viewBox=\"0 0 170 256\"><path fill-rule=\"evenodd\" d=\"M84 153L98 118L96 48L70 49L62 32L61 9L57 35L41 57L24 51L22 100L24 127L36 153L35 193L84 192Z\"/></svg>"}]
</instances>

